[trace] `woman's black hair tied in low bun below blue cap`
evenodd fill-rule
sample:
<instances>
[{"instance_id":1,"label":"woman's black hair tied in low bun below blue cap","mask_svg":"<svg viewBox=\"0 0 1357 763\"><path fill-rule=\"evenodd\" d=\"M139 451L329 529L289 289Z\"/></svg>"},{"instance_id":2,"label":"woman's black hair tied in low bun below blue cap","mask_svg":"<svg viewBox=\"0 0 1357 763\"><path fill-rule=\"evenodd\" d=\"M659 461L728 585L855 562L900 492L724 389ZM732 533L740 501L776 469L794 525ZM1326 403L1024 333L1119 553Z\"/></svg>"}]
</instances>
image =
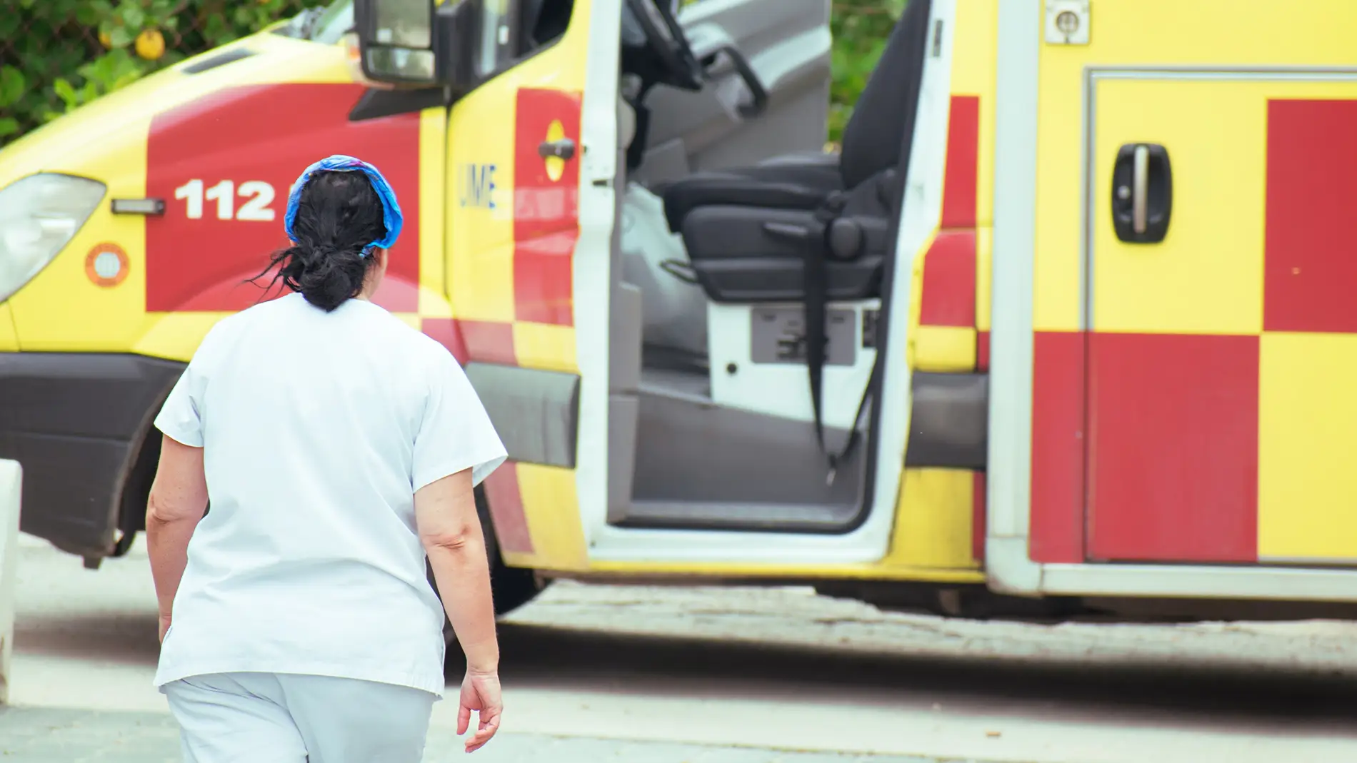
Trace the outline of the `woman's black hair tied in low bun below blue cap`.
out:
<instances>
[{"instance_id":1,"label":"woman's black hair tied in low bun below blue cap","mask_svg":"<svg viewBox=\"0 0 1357 763\"><path fill-rule=\"evenodd\" d=\"M266 294L282 281L328 313L362 291L375 262L362 251L387 234L381 199L361 172L316 172L301 188L292 234L296 243L274 252L252 281L277 268Z\"/></svg>"}]
</instances>

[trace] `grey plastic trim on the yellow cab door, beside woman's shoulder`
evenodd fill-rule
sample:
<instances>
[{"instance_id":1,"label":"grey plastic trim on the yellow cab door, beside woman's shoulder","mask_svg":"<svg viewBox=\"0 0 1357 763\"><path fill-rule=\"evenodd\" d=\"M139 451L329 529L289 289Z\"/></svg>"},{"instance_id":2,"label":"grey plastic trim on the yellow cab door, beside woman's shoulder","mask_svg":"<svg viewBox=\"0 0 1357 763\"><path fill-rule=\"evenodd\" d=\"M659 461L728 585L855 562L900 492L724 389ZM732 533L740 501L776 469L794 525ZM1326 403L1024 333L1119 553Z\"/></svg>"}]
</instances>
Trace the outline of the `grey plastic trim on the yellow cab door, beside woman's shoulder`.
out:
<instances>
[{"instance_id":1,"label":"grey plastic trim on the yellow cab door, beside woman's shoulder","mask_svg":"<svg viewBox=\"0 0 1357 763\"><path fill-rule=\"evenodd\" d=\"M465 371L510 461L574 469L578 375L497 363L467 363Z\"/></svg>"}]
</instances>

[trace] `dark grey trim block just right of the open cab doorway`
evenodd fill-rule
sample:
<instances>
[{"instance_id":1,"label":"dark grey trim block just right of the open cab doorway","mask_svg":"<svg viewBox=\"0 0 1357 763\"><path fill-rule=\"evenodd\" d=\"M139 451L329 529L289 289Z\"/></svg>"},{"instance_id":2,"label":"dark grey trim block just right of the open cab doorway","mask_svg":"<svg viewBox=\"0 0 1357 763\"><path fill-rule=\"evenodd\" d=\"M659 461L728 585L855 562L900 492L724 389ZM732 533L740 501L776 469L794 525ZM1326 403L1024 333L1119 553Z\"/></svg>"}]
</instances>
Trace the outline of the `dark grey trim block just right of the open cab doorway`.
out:
<instances>
[{"instance_id":1,"label":"dark grey trim block just right of the open cab doorway","mask_svg":"<svg viewBox=\"0 0 1357 763\"><path fill-rule=\"evenodd\" d=\"M989 449L989 374L912 377L905 466L982 470Z\"/></svg>"}]
</instances>

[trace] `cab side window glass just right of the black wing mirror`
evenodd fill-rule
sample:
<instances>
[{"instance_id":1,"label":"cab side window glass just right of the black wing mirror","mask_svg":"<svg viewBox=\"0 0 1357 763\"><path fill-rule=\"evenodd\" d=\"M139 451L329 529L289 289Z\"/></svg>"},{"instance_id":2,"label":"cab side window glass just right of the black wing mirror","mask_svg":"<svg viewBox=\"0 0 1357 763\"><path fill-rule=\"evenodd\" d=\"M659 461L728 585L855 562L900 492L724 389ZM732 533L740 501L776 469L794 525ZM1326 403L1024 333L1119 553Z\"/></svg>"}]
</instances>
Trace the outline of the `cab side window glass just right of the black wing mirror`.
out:
<instances>
[{"instance_id":1,"label":"cab side window glass just right of the black wing mirror","mask_svg":"<svg viewBox=\"0 0 1357 763\"><path fill-rule=\"evenodd\" d=\"M574 0L483 0L478 73L493 76L560 39L574 8Z\"/></svg>"}]
</instances>

